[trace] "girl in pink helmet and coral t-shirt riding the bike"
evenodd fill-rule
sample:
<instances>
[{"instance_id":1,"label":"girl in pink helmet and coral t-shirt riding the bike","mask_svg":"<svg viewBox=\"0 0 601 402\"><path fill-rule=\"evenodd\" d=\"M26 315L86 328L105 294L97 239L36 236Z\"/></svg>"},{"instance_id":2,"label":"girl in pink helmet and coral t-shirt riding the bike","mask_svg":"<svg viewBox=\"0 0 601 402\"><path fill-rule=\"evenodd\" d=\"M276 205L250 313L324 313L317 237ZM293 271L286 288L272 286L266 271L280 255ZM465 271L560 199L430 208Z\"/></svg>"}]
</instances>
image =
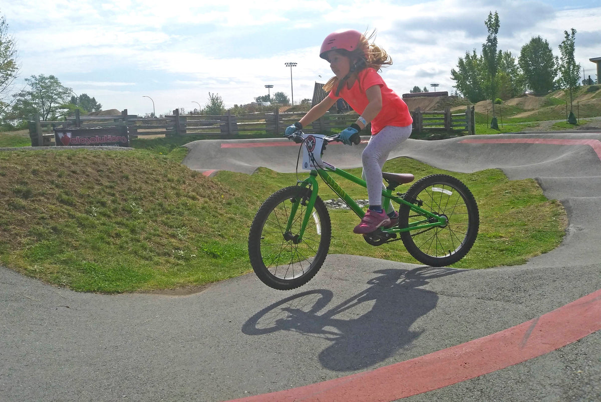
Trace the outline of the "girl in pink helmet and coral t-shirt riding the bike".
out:
<instances>
[{"instance_id":1,"label":"girl in pink helmet and coral t-shirt riding the bike","mask_svg":"<svg viewBox=\"0 0 601 402\"><path fill-rule=\"evenodd\" d=\"M340 133L343 143L352 145L350 137L371 122L371 138L361 154L362 178L367 182L370 206L353 229L359 234L398 223L398 213L391 203L382 206L382 167L388 154L409 138L413 122L407 105L377 73L383 65L391 65L392 59L385 50L370 43L374 33L366 37L349 30L333 32L325 38L319 56L329 61L335 74L323 87L329 94L285 131L285 135L290 135L307 127L325 115L339 98L359 113L357 121Z\"/></svg>"}]
</instances>

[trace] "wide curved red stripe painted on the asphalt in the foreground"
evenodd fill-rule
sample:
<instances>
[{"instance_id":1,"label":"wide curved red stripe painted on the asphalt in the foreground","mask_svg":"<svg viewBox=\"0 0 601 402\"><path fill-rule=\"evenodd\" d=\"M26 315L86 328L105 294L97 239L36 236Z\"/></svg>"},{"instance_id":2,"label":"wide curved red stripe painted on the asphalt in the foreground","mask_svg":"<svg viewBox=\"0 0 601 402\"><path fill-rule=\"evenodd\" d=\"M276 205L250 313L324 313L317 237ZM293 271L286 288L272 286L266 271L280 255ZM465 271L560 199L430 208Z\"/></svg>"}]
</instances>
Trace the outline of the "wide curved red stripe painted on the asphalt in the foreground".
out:
<instances>
[{"instance_id":1,"label":"wide curved red stripe painted on the asphalt in the foreground","mask_svg":"<svg viewBox=\"0 0 601 402\"><path fill-rule=\"evenodd\" d=\"M601 289L536 319L429 355L236 401L392 401L519 364L599 330Z\"/></svg>"}]
</instances>

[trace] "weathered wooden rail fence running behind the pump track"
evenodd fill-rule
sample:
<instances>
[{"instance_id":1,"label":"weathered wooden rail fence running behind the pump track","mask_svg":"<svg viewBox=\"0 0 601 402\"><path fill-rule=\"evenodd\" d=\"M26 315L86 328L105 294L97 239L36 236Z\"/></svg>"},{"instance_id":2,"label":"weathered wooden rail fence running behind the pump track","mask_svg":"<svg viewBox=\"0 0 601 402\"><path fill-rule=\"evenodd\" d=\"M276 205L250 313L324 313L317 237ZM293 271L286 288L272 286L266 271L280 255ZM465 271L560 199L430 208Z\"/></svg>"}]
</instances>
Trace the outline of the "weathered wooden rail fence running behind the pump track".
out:
<instances>
[{"instance_id":1,"label":"weathered wooden rail fence running behind the pump track","mask_svg":"<svg viewBox=\"0 0 601 402\"><path fill-rule=\"evenodd\" d=\"M79 112L79 111L77 111ZM79 116L65 121L40 121L35 115L29 121L31 144L54 145L54 128L103 128L126 127L130 137L139 136L203 136L214 139L252 138L253 135L281 136L288 125L299 121L305 112L282 113L277 109L270 113L246 113L244 115L180 115L174 110L164 118L139 118L128 115L127 109L121 115ZM326 113L305 130L322 133L331 130L343 130L358 118L357 113ZM450 108L439 112L423 112L419 108L412 113L413 130L447 131L448 133L475 134L474 107L468 106L465 113L451 113ZM368 128L369 129L369 128ZM367 132L367 130L365 130Z\"/></svg>"}]
</instances>

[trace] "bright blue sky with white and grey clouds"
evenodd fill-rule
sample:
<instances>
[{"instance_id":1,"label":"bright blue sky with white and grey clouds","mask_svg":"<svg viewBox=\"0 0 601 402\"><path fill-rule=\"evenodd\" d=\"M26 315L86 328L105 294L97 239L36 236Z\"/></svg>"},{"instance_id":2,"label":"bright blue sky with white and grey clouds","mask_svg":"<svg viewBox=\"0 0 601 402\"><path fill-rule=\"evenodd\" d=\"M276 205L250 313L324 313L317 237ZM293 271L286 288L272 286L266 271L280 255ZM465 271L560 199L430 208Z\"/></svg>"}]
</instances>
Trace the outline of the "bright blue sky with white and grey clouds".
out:
<instances>
[{"instance_id":1,"label":"bright blue sky with white and grey clouds","mask_svg":"<svg viewBox=\"0 0 601 402\"><path fill-rule=\"evenodd\" d=\"M540 35L559 56L564 31L576 29L576 62L596 78L601 57L601 0L19 0L0 2L16 42L19 77L57 77L103 109L171 114L209 103L225 107L284 92L294 104L332 77L319 58L323 39L340 29L376 29L392 57L382 70L398 94L413 86L453 92L451 69L481 53L484 21L498 12L498 49L517 59ZM296 62L287 67L285 62ZM265 85L273 85L266 89ZM292 88L291 88L292 87ZM150 97L150 98L148 98Z\"/></svg>"}]
</instances>

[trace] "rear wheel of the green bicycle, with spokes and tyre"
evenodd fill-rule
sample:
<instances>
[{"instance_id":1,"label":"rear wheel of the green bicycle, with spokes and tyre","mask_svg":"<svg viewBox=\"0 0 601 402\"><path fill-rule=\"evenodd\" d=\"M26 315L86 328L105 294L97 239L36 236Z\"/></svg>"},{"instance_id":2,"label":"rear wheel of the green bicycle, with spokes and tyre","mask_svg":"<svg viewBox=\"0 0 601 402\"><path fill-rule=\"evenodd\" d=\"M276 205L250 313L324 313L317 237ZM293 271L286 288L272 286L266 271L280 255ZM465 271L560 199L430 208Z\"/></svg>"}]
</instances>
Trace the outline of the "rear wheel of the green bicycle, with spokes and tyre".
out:
<instances>
[{"instance_id":1,"label":"rear wheel of the green bicycle, with spokes and tyre","mask_svg":"<svg viewBox=\"0 0 601 402\"><path fill-rule=\"evenodd\" d=\"M447 220L445 226L401 233L403 244L413 258L429 266L447 266L468 254L478 235L480 214L465 184L453 176L426 176L409 188L404 199ZM401 205L400 228L424 220L428 217Z\"/></svg>"}]
</instances>

